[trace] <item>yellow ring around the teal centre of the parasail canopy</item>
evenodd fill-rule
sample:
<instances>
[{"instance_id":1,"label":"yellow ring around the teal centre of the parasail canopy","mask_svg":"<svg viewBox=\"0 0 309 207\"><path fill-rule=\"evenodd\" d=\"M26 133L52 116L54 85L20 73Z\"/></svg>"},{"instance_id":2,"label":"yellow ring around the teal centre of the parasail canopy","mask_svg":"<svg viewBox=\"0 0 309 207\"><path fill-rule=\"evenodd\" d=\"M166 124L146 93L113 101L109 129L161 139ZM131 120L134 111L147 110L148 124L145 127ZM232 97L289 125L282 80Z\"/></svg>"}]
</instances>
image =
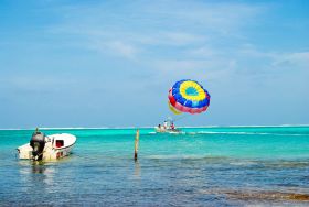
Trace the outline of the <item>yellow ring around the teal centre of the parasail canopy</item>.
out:
<instances>
[{"instance_id":1,"label":"yellow ring around the teal centre of the parasail canopy","mask_svg":"<svg viewBox=\"0 0 309 207\"><path fill-rule=\"evenodd\" d=\"M188 95L187 94L187 89L188 88L194 88L198 91L198 95L192 96L192 95ZM180 90L180 95L185 98L187 100L192 100L192 101L200 101L200 100L204 100L206 98L206 95L203 90L203 88L196 84L195 81L183 81L179 88Z\"/></svg>"}]
</instances>

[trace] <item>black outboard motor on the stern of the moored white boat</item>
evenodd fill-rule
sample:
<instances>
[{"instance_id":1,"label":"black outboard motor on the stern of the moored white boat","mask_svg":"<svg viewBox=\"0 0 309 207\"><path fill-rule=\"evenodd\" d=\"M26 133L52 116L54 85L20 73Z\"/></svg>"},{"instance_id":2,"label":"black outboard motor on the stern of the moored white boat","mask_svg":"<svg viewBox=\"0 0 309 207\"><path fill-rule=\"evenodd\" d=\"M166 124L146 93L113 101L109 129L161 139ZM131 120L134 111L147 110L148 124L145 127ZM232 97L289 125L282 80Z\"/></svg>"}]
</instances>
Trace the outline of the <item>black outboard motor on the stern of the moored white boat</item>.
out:
<instances>
[{"instance_id":1,"label":"black outboard motor on the stern of the moored white boat","mask_svg":"<svg viewBox=\"0 0 309 207\"><path fill-rule=\"evenodd\" d=\"M35 132L32 134L30 145L33 149L33 160L41 161L43 159L43 150L45 148L45 134L36 129Z\"/></svg>"}]
</instances>

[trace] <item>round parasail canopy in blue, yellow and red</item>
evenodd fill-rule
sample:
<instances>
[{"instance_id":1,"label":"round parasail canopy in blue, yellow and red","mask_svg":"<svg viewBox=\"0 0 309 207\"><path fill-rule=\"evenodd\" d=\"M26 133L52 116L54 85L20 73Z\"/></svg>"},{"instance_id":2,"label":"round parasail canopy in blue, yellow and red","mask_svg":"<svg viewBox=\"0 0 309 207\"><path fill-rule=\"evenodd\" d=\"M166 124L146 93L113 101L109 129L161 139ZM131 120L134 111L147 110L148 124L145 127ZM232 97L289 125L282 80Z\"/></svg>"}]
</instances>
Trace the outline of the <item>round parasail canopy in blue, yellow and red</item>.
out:
<instances>
[{"instance_id":1,"label":"round parasail canopy in blue, yellow and red","mask_svg":"<svg viewBox=\"0 0 309 207\"><path fill-rule=\"evenodd\" d=\"M169 90L169 107L172 112L201 113L207 110L211 96L195 80L183 79L177 81Z\"/></svg>"}]
</instances>

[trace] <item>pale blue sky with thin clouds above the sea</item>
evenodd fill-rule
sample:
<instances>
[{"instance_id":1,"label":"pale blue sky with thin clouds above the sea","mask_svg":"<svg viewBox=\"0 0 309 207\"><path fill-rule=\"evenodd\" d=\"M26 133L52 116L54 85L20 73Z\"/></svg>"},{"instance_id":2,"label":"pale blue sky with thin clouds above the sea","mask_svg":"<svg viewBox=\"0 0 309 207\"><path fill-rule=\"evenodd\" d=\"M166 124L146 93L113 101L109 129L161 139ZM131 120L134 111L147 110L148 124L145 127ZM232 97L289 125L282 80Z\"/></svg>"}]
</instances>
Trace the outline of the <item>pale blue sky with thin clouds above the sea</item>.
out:
<instances>
[{"instance_id":1,"label":"pale blue sky with thin clouds above the sea","mask_svg":"<svg viewBox=\"0 0 309 207\"><path fill-rule=\"evenodd\" d=\"M180 126L309 123L309 2L0 1L0 128L156 126L195 79Z\"/></svg>"}]
</instances>

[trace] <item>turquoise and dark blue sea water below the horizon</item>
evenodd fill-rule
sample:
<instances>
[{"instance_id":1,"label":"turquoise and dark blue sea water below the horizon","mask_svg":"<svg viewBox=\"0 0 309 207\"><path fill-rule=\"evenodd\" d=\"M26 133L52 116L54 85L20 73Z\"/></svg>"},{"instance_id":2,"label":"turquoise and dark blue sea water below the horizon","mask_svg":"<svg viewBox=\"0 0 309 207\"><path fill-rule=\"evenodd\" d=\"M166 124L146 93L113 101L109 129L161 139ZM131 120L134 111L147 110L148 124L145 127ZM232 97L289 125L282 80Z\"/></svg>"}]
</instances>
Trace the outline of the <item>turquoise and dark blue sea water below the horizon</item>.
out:
<instances>
[{"instance_id":1,"label":"turquoise and dark blue sea water below the horizon","mask_svg":"<svg viewBox=\"0 0 309 207\"><path fill-rule=\"evenodd\" d=\"M0 130L0 206L309 206L309 127L45 129L77 137L56 162L17 159Z\"/></svg>"}]
</instances>

